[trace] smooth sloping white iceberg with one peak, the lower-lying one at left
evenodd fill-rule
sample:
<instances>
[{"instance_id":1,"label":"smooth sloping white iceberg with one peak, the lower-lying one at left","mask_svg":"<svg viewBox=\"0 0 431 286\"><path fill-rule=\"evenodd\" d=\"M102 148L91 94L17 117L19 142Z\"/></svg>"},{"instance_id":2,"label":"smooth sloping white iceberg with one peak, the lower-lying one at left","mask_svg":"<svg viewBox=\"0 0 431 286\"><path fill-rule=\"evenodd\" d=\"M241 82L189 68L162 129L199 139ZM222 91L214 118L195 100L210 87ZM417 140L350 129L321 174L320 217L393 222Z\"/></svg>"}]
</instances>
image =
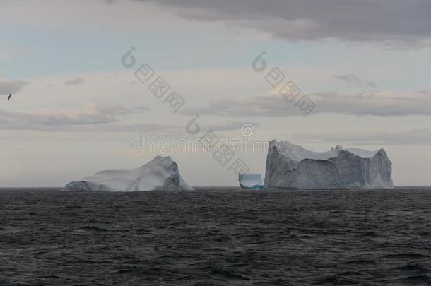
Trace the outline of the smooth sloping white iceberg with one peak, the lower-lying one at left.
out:
<instances>
[{"instance_id":1,"label":"smooth sloping white iceberg with one peak, the lower-lying one at left","mask_svg":"<svg viewBox=\"0 0 431 286\"><path fill-rule=\"evenodd\" d=\"M138 169L101 171L72 181L63 191L194 191L171 157L157 156Z\"/></svg>"}]
</instances>

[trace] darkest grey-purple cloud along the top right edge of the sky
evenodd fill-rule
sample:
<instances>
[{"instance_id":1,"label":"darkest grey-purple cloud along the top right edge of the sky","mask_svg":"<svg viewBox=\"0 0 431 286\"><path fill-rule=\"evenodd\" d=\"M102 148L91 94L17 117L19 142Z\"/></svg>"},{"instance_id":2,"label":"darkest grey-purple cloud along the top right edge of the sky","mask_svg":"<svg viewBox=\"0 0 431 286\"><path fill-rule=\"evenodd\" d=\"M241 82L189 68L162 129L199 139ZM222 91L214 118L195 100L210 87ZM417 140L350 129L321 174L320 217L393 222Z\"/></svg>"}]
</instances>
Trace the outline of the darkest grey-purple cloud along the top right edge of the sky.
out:
<instances>
[{"instance_id":1,"label":"darkest grey-purple cloud along the top right edge of the sky","mask_svg":"<svg viewBox=\"0 0 431 286\"><path fill-rule=\"evenodd\" d=\"M427 0L136 0L191 20L224 21L286 40L342 39L403 45L430 41Z\"/></svg>"}]
</instances>

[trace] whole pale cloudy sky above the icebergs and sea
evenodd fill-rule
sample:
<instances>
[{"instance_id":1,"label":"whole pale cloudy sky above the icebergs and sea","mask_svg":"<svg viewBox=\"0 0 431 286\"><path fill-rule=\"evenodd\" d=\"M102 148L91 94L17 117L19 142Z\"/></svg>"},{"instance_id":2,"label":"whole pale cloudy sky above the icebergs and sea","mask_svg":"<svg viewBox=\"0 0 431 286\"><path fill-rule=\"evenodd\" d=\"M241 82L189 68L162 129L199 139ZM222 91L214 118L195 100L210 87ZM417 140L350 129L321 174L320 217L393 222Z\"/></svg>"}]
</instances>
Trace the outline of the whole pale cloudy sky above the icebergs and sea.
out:
<instances>
[{"instance_id":1,"label":"whole pale cloudy sky above the icebergs and sea","mask_svg":"<svg viewBox=\"0 0 431 286\"><path fill-rule=\"evenodd\" d=\"M3 0L0 11L1 187L64 186L156 155L192 186L237 186L233 163L264 172L273 139L384 148L394 184L431 185L430 1ZM151 92L159 77L163 95ZM202 148L208 134L229 142L229 162Z\"/></svg>"}]
</instances>

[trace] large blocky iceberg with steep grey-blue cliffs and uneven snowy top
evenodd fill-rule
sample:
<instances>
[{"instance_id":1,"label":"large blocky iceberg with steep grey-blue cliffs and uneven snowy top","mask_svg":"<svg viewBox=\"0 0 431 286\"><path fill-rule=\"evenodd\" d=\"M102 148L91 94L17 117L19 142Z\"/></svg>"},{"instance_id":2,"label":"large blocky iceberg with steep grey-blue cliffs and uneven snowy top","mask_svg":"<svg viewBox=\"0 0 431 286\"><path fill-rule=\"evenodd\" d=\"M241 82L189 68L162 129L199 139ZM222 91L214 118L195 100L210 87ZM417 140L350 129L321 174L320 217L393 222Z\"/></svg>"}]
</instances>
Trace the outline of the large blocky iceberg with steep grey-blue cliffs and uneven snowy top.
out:
<instances>
[{"instance_id":1,"label":"large blocky iceberg with steep grey-blue cliffs and uneven snowy top","mask_svg":"<svg viewBox=\"0 0 431 286\"><path fill-rule=\"evenodd\" d=\"M265 188L392 189L392 163L383 149L337 146L313 152L285 141L269 143Z\"/></svg>"}]
</instances>

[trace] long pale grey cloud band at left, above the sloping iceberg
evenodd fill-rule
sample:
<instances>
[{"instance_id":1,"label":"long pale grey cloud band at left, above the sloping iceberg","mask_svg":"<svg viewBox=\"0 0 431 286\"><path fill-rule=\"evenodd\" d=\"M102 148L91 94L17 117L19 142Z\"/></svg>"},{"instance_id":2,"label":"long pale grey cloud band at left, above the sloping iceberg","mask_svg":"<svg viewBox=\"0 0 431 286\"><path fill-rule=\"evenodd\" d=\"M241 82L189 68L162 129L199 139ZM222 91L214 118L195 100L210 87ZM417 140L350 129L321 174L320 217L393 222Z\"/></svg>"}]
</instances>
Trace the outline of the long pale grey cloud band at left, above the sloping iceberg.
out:
<instances>
[{"instance_id":1,"label":"long pale grey cloud band at left, above the sloping iceberg","mask_svg":"<svg viewBox=\"0 0 431 286\"><path fill-rule=\"evenodd\" d=\"M185 125L122 124L132 114L141 114L146 107L126 108L119 105L85 105L81 109L45 109L10 112L0 109L0 129L79 132L154 132L169 136L184 136ZM225 121L201 125L201 131L240 130L244 122ZM259 123L254 123L259 126Z\"/></svg>"}]
</instances>

